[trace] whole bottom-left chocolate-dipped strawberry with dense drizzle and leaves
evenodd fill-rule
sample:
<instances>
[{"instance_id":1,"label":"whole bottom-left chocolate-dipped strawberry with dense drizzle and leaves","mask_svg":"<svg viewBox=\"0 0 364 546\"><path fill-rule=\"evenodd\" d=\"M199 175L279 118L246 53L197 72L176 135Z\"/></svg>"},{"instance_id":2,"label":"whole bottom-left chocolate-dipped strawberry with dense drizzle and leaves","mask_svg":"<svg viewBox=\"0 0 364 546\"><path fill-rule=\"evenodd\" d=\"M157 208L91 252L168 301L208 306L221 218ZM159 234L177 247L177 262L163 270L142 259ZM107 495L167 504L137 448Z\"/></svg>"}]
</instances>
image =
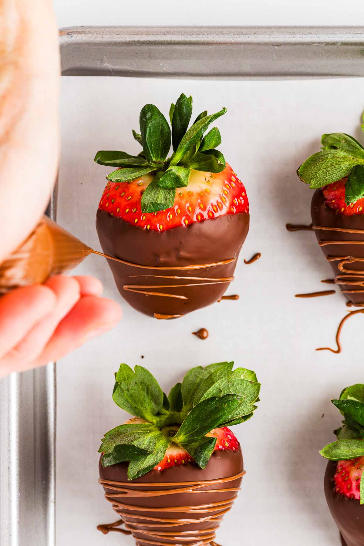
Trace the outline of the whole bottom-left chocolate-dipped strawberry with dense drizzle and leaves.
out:
<instances>
[{"instance_id":1,"label":"whole bottom-left chocolate-dipped strawberry with dense drizzle and leaves","mask_svg":"<svg viewBox=\"0 0 364 546\"><path fill-rule=\"evenodd\" d=\"M255 373L233 365L193 368L166 396L144 367L121 364L112 397L135 417L99 449L100 484L121 519L98 529L132 533L138 546L213 544L245 473L230 427L259 400Z\"/></svg>"}]
</instances>

